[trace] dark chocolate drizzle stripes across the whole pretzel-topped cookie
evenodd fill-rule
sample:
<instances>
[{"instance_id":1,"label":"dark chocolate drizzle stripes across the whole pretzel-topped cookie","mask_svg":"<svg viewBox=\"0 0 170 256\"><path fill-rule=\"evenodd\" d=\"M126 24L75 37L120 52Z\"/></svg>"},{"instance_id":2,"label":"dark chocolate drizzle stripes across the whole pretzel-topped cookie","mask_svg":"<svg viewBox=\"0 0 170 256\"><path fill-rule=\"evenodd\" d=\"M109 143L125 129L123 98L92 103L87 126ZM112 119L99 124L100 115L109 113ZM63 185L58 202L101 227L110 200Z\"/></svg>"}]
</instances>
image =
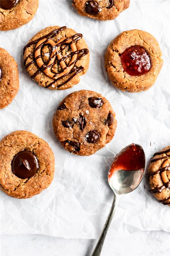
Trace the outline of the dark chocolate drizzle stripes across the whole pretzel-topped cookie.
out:
<instances>
[{"instance_id":1,"label":"dark chocolate drizzle stripes across the whole pretzel-topped cookie","mask_svg":"<svg viewBox=\"0 0 170 256\"><path fill-rule=\"evenodd\" d=\"M44 42L42 42L40 45L38 45L35 49L34 49L34 52L39 50L44 44L48 44L48 41L50 39L52 39L54 36L58 35L61 31L63 31L64 29L66 29L66 27L61 27L59 29L55 29L53 31L51 31L49 34L47 34L46 36L43 36L37 40L34 40L32 42L29 42L25 47L24 47L24 52L26 50L27 47L30 47L31 45L33 44L37 44L40 40L42 39L46 39ZM68 67L70 67L71 65L73 65L73 68L66 72L63 76L59 76L57 78L57 76L60 74L60 73L54 73L54 76L52 77L52 79L54 79L53 82L51 82L50 84L48 84L45 88L49 88L51 85L55 84L57 81L59 81L60 79L64 78L65 76L71 74L71 76L66 80L64 81L62 84L59 84L58 86L56 86L56 88L59 88L61 86L63 86L64 84L67 84L74 76L76 76L78 73L80 73L81 71L83 71L83 67L75 67L75 63L80 60L82 57L84 57L86 54L88 54L88 49L81 49L81 50L77 50L77 51L74 51L74 52L71 52L69 55L67 56L63 56L61 59L57 59L56 58L56 54L58 53L61 53L61 51L63 51L64 49L66 49L67 47L69 47L71 44L73 43L76 43L78 40L80 40L81 38L83 37L82 34L75 34L73 36L71 36L70 38L65 38L62 42L59 42L58 44L56 43L56 45L54 46L55 48L57 47L61 47L61 49L59 51L57 51L57 53L54 53L54 55L52 57L49 58L48 60L48 63L47 65L43 64L40 68L38 68L38 70L31 76L31 79L33 80L40 72L43 72L44 70L46 70L47 68L52 68L53 65L55 64L60 64L61 61L65 61L67 60L68 58L72 57L73 55L75 54L80 54L78 56L78 58L76 60L74 60L72 63L66 65L65 68L63 68L63 71L65 69L67 69ZM67 41L69 41L69 43L67 43ZM66 44L66 45L65 45ZM64 47L62 47L62 45L64 45ZM23 52L23 54L24 54ZM27 65L26 65L26 61L32 57L33 60L30 61ZM25 65L25 68L28 68L31 64L33 64L38 58L41 58L41 55L38 55L36 58L34 57L34 53L31 53L30 55L28 55L26 57L26 59L24 60L24 65ZM49 64L49 61L51 61L52 59L54 59L54 62ZM56 77L56 79L55 79Z\"/></svg>"}]
</instances>

